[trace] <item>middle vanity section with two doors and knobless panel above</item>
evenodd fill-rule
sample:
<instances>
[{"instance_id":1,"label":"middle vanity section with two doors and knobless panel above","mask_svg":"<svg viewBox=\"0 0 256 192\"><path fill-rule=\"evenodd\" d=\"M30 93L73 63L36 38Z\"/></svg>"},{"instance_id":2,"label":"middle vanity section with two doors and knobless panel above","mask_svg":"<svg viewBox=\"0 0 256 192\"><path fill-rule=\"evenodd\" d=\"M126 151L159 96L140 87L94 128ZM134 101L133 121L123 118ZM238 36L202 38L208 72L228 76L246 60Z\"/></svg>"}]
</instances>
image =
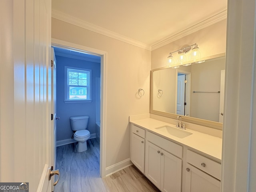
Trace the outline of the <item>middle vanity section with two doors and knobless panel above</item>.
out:
<instances>
[{"instance_id":1,"label":"middle vanity section with two doors and knobless panel above","mask_svg":"<svg viewBox=\"0 0 256 192\"><path fill-rule=\"evenodd\" d=\"M147 132L145 175L161 191L181 191L181 158L182 146Z\"/></svg>"}]
</instances>

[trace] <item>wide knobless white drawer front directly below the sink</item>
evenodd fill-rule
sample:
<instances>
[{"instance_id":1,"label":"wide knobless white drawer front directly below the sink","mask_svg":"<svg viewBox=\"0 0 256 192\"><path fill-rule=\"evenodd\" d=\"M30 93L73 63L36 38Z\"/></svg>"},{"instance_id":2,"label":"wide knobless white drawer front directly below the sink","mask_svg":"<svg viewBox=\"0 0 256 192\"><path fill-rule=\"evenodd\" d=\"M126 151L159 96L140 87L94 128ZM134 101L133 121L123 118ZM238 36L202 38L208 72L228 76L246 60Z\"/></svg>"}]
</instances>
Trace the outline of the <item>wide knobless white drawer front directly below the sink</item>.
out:
<instances>
[{"instance_id":1,"label":"wide knobless white drawer front directly below the sink","mask_svg":"<svg viewBox=\"0 0 256 192\"><path fill-rule=\"evenodd\" d=\"M156 134L147 131L147 138L146 140L150 141L151 143L155 144L156 146L166 150L167 152L177 156L178 158L182 158L182 151L183 147L171 142L167 139L164 139Z\"/></svg>"}]
</instances>

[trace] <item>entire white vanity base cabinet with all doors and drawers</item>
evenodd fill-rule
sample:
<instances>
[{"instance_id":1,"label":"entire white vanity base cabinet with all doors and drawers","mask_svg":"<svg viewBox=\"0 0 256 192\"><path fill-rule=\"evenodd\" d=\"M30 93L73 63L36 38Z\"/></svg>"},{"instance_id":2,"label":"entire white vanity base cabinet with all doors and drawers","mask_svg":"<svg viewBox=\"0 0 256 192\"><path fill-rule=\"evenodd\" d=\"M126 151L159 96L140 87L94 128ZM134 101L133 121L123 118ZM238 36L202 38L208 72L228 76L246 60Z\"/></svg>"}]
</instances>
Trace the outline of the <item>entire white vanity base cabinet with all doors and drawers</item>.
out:
<instances>
[{"instance_id":1,"label":"entire white vanity base cabinet with all doors and drawers","mask_svg":"<svg viewBox=\"0 0 256 192\"><path fill-rule=\"evenodd\" d=\"M220 192L221 164L210 158L211 153L198 150L198 145L194 145L194 142L200 142L200 137L196 136L199 141L192 142L186 138L168 139L154 132L148 126L151 123L152 120L145 120L143 124L131 123L132 163L162 192ZM196 134L193 132L192 136ZM207 137L212 139L212 136ZM214 146L215 143L209 148Z\"/></svg>"}]
</instances>

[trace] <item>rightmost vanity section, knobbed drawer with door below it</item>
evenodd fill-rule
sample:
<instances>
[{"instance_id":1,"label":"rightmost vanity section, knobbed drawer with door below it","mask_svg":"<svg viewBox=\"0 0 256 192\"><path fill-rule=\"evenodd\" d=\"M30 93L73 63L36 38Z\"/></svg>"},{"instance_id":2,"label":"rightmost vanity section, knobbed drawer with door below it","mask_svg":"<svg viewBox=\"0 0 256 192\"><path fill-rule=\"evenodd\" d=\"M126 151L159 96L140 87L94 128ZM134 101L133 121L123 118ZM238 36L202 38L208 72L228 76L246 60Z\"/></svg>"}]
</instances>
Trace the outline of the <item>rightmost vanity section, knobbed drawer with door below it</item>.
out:
<instances>
[{"instance_id":1,"label":"rightmost vanity section, knobbed drawer with door below it","mask_svg":"<svg viewBox=\"0 0 256 192\"><path fill-rule=\"evenodd\" d=\"M220 192L220 163L187 150L186 192Z\"/></svg>"}]
</instances>

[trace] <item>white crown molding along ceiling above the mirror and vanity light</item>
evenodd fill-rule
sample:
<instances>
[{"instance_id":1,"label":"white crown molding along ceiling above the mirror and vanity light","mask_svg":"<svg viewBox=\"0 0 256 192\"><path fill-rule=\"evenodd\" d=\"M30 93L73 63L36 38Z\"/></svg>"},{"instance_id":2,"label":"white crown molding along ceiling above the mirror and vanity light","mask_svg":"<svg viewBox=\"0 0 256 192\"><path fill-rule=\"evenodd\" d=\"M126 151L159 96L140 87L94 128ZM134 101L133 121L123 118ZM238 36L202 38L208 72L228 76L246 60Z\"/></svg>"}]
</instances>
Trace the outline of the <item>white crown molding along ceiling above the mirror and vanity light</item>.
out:
<instances>
[{"instance_id":1,"label":"white crown molding along ceiling above the mirror and vanity light","mask_svg":"<svg viewBox=\"0 0 256 192\"><path fill-rule=\"evenodd\" d=\"M219 13L217 13L217 14L215 14L215 15L213 15L213 16L211 16L211 17L209 17L209 18L207 18L207 19L205 19L205 20L203 20L201 22L198 22L197 24L195 24L195 25L193 25L193 26L191 26L189 28L186 28L185 30L183 30L181 32L178 32L177 34L174 34L174 35L166 38L165 40L161 40L161 41L153 44L151 46L151 50L155 50L157 48L160 48L160 47L162 47L162 46L164 46L166 44L174 42L174 41L176 41L176 40L178 40L180 38L183 38L183 37L185 37L185 36L187 36L189 34L192 34L192 33L196 32L198 30L206 28L206 27L208 27L208 26L210 26L212 24L215 24L215 23L217 23L217 22L219 22L221 20L224 20L226 18L227 18L227 9L222 10L221 12L219 12Z\"/></svg>"}]
</instances>

